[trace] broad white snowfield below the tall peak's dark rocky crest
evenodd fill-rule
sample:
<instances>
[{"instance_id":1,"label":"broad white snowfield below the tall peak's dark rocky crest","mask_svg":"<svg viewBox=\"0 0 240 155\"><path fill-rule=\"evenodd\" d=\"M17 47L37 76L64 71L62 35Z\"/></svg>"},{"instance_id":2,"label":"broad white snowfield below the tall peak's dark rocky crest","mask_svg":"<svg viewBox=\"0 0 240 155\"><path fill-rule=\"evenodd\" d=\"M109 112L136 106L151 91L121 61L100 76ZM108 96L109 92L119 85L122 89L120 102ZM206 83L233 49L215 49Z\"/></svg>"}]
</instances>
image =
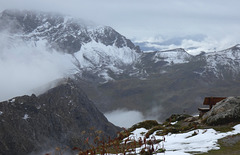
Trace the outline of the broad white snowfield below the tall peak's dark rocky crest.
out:
<instances>
[{"instance_id":1,"label":"broad white snowfield below the tall peak's dark rocky crest","mask_svg":"<svg viewBox=\"0 0 240 155\"><path fill-rule=\"evenodd\" d=\"M118 48L91 41L84 44L74 56L79 60L81 68L105 67L118 73L122 71L116 66L134 63L139 54L129 47Z\"/></svg>"}]
</instances>

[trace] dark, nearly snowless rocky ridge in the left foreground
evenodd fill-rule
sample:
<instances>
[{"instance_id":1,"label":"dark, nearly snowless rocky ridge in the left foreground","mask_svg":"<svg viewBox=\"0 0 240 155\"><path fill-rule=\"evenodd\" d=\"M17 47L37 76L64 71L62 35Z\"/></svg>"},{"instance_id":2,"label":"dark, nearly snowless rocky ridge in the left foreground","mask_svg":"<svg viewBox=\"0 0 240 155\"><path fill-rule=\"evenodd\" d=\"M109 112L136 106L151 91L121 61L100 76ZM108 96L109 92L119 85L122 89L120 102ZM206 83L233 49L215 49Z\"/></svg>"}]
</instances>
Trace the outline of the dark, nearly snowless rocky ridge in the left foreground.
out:
<instances>
[{"instance_id":1,"label":"dark, nearly snowless rocky ridge in the left foreground","mask_svg":"<svg viewBox=\"0 0 240 155\"><path fill-rule=\"evenodd\" d=\"M80 87L68 80L40 96L0 103L0 154L27 154L56 147L85 148L100 134L114 137L108 122Z\"/></svg>"}]
</instances>

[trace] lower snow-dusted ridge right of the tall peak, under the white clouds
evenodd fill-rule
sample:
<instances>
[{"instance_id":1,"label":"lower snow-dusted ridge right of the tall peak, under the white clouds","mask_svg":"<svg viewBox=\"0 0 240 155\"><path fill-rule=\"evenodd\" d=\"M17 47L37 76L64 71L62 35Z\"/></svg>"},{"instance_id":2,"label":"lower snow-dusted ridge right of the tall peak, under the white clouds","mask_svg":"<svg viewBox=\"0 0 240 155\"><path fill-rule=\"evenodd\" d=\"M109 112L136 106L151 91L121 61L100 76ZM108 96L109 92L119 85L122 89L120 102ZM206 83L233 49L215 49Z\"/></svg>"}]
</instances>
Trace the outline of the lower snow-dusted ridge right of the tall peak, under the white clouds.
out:
<instances>
[{"instance_id":1,"label":"lower snow-dusted ridge right of the tall peak, under the white clouds","mask_svg":"<svg viewBox=\"0 0 240 155\"><path fill-rule=\"evenodd\" d=\"M196 56L181 48L147 52L142 54L140 63L141 67L146 69L146 73L151 73L152 70L161 72L173 65L186 64L187 67L192 63L199 63L200 65L192 72L202 78L209 76L217 79L229 76L236 78L240 73L240 45L222 51L202 52Z\"/></svg>"}]
</instances>

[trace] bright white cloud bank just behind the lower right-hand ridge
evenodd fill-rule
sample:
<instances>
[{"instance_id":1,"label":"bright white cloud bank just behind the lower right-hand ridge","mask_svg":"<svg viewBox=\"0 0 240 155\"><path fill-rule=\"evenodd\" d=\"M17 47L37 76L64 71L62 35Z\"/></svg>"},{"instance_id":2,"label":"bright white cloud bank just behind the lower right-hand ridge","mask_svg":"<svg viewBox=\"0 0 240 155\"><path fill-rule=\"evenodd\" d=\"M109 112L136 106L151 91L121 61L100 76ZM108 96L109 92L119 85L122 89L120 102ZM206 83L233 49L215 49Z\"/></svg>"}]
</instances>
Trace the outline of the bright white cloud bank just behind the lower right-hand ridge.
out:
<instances>
[{"instance_id":1,"label":"bright white cloud bank just behind the lower right-hand ridge","mask_svg":"<svg viewBox=\"0 0 240 155\"><path fill-rule=\"evenodd\" d=\"M193 38L191 38L193 37ZM176 48L184 48L189 54L197 55L203 52L221 51L239 44L237 38L234 36L226 36L224 38L213 38L204 36L197 39L193 36L165 38L161 36L145 38L144 40L135 40L136 43L142 43L143 49L147 48L145 52L149 51L164 51Z\"/></svg>"}]
</instances>

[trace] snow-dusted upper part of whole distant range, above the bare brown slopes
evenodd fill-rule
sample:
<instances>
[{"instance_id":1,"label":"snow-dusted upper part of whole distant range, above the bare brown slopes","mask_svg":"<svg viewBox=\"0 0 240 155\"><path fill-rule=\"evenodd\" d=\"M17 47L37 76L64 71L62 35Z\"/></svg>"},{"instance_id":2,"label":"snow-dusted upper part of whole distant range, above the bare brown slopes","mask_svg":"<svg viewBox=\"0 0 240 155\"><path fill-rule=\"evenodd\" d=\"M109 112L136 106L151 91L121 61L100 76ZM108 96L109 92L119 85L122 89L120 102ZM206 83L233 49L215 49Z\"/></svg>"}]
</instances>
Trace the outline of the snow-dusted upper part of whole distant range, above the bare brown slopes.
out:
<instances>
[{"instance_id":1,"label":"snow-dusted upper part of whole distant range, above the bare brown slopes","mask_svg":"<svg viewBox=\"0 0 240 155\"><path fill-rule=\"evenodd\" d=\"M146 77L165 72L165 67L204 61L194 73L224 78L225 73L240 73L239 45L230 49L188 54L184 49L144 53L129 39L108 26L53 13L5 10L0 14L1 35L8 35L8 47L18 47L17 39L28 46L45 46L72 55L78 75L98 82L114 80L116 76ZM7 33L6 33L7 32ZM5 37L6 38L6 37ZM6 42L6 41L5 41ZM5 45L6 46L6 45Z\"/></svg>"}]
</instances>

